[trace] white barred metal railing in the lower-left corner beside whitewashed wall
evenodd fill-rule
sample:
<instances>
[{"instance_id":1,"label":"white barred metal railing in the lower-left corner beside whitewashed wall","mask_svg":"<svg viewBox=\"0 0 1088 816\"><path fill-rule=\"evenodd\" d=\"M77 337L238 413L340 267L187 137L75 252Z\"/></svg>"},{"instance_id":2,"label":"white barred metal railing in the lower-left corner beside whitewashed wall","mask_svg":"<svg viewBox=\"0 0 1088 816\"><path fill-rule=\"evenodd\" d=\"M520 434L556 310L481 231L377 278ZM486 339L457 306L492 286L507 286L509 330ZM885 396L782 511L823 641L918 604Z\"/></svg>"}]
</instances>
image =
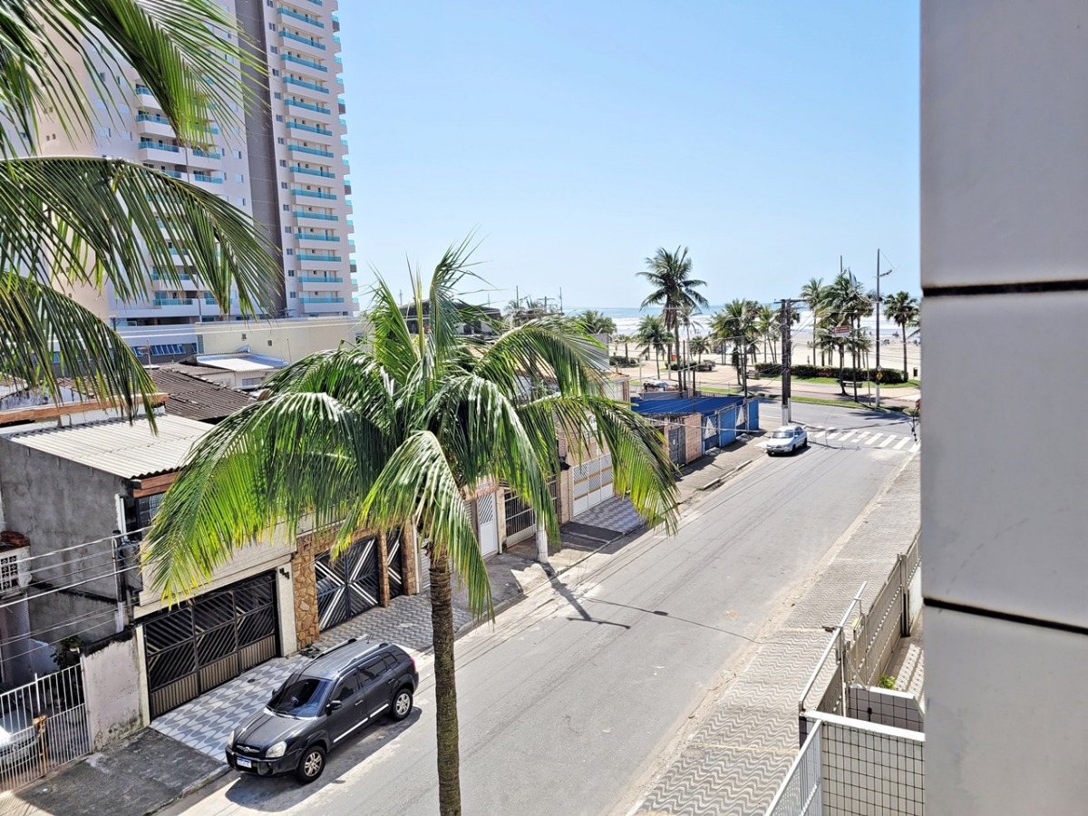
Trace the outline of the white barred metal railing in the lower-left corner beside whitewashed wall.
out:
<instances>
[{"instance_id":1,"label":"white barred metal railing in the lower-left corner beside whitewashed wall","mask_svg":"<svg viewBox=\"0 0 1088 816\"><path fill-rule=\"evenodd\" d=\"M40 779L54 768L90 753L83 666L0 694L0 717L8 732L0 745L0 789Z\"/></svg>"}]
</instances>

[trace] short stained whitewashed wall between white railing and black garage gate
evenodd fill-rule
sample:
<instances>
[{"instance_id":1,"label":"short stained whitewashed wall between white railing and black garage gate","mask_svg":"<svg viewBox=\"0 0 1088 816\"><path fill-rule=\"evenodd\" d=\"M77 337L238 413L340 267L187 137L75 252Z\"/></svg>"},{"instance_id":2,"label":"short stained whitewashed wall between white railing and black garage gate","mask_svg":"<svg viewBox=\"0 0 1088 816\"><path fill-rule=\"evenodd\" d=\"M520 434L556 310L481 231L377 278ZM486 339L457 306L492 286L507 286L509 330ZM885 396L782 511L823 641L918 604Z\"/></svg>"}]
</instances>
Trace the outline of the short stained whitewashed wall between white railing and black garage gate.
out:
<instances>
[{"instance_id":1,"label":"short stained whitewashed wall between white railing and black garage gate","mask_svg":"<svg viewBox=\"0 0 1088 816\"><path fill-rule=\"evenodd\" d=\"M140 694L139 644L133 634L83 656L83 687L91 751L147 725Z\"/></svg>"}]
</instances>

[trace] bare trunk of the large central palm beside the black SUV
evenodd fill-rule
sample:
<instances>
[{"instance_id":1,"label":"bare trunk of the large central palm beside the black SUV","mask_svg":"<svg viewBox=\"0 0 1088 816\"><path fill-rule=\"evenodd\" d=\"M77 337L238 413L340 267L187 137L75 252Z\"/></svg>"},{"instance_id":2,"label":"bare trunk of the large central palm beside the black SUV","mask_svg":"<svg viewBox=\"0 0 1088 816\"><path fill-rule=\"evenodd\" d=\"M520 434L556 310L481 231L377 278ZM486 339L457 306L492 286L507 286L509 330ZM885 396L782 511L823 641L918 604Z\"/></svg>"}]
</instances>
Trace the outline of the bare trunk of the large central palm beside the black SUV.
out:
<instances>
[{"instance_id":1,"label":"bare trunk of the large central palm beside the black SUV","mask_svg":"<svg viewBox=\"0 0 1088 816\"><path fill-rule=\"evenodd\" d=\"M438 813L461 816L457 685L454 679L454 604L449 557L431 545L431 629L434 641L435 722L438 737Z\"/></svg>"}]
</instances>

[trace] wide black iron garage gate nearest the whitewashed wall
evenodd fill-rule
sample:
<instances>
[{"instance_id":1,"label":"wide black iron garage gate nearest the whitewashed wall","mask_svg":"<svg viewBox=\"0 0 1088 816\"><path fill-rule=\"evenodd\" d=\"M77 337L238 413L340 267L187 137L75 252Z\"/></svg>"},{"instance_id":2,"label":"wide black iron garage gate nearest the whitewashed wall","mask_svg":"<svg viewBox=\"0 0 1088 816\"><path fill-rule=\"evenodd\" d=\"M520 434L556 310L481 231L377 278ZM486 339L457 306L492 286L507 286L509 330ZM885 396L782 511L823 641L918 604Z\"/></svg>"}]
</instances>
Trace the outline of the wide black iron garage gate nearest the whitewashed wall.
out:
<instances>
[{"instance_id":1,"label":"wide black iron garage gate nearest the whitewashed wall","mask_svg":"<svg viewBox=\"0 0 1088 816\"><path fill-rule=\"evenodd\" d=\"M276 621L272 572L148 619L144 645L152 719L275 657Z\"/></svg>"}]
</instances>

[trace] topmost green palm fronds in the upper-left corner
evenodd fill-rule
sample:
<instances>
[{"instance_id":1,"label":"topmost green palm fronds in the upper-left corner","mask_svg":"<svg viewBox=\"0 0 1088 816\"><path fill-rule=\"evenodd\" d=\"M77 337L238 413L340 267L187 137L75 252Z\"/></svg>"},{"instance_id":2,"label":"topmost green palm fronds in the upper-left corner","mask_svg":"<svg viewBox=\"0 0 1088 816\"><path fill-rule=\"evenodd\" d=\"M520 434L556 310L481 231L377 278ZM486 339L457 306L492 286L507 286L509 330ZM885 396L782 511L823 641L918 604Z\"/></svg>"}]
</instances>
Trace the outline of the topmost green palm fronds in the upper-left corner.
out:
<instances>
[{"instance_id":1,"label":"topmost green palm fronds in the upper-left corner","mask_svg":"<svg viewBox=\"0 0 1088 816\"><path fill-rule=\"evenodd\" d=\"M89 131L95 115L78 74L113 107L132 92L126 67L156 96L181 140L207 144L211 121L237 122L231 102L254 99L244 77L257 73L244 41L236 21L212 0L3 0L0 107L17 127L0 131L0 154L33 150L44 115L70 135Z\"/></svg>"}]
</instances>

